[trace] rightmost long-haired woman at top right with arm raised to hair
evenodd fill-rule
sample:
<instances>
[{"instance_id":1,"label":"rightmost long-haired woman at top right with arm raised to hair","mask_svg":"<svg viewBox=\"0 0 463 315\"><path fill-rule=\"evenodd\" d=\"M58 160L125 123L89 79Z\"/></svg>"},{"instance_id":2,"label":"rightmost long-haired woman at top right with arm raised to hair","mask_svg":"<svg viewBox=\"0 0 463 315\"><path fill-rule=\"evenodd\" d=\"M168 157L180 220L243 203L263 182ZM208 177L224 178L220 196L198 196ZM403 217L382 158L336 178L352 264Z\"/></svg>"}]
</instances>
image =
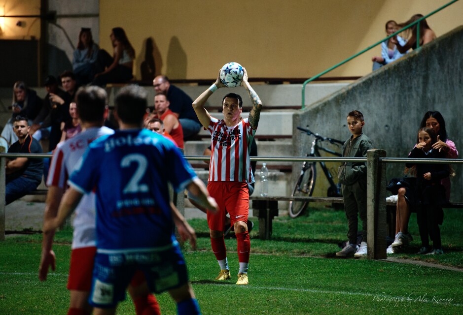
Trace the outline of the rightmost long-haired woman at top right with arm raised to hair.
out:
<instances>
[{"instance_id":1,"label":"rightmost long-haired woman at top right with arm raised to hair","mask_svg":"<svg viewBox=\"0 0 463 315\"><path fill-rule=\"evenodd\" d=\"M398 28L402 29L406 27L407 25L409 25L410 23L413 23L421 19L422 17L423 17L423 14L415 14L407 22L398 24ZM397 36L391 37L392 43L395 44L395 46L397 47L397 50L400 53L405 54L410 48L416 49L417 30L418 30L418 25L414 24L411 28L405 31L411 34L410 38L405 43L405 45L400 44ZM427 25L426 19L421 20L420 21L420 38L419 38L420 47L429 43L430 41L434 39L436 39L436 34L434 33L434 31L431 30L429 25Z\"/></svg>"}]
</instances>

